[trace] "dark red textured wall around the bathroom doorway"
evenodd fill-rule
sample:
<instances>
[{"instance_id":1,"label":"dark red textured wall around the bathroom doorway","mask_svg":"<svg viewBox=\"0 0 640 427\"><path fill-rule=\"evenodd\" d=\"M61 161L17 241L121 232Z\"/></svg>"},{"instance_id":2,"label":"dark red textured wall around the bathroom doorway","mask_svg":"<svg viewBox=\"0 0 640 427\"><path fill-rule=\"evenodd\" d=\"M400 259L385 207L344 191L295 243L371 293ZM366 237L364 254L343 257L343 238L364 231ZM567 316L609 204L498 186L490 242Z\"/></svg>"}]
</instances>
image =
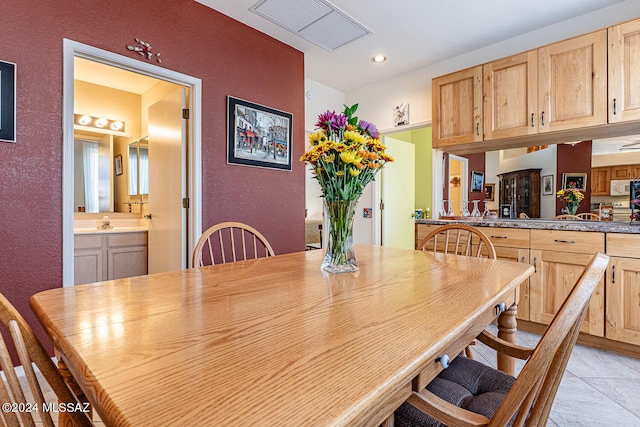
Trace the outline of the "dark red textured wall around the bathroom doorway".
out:
<instances>
[{"instance_id":1,"label":"dark red textured wall around the bathroom doorway","mask_svg":"<svg viewBox=\"0 0 640 427\"><path fill-rule=\"evenodd\" d=\"M3 1L0 16L0 60L17 64L17 143L0 143L0 291L29 323L29 297L62 282L63 38L146 61L126 49L139 37L156 65L202 79L203 229L245 222L278 254L304 250L301 52L192 0ZM226 164L227 95L293 114L293 171Z\"/></svg>"}]
</instances>

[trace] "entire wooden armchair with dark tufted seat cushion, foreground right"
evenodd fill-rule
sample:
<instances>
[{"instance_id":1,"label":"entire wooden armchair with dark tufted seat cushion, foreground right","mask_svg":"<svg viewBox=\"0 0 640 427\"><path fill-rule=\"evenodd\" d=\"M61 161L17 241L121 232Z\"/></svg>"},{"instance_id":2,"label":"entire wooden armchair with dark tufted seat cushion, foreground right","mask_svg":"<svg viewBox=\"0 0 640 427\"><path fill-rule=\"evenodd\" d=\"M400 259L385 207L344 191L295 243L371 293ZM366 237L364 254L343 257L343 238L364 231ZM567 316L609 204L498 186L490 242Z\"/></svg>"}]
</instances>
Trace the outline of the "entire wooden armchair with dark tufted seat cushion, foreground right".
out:
<instances>
[{"instance_id":1,"label":"entire wooden armchair with dark tufted seat cushion, foreground right","mask_svg":"<svg viewBox=\"0 0 640 427\"><path fill-rule=\"evenodd\" d=\"M511 344L487 331L478 336L494 350L526 360L517 378L458 356L425 389L414 391L387 425L545 425L608 260L602 253L593 256L535 348Z\"/></svg>"}]
</instances>

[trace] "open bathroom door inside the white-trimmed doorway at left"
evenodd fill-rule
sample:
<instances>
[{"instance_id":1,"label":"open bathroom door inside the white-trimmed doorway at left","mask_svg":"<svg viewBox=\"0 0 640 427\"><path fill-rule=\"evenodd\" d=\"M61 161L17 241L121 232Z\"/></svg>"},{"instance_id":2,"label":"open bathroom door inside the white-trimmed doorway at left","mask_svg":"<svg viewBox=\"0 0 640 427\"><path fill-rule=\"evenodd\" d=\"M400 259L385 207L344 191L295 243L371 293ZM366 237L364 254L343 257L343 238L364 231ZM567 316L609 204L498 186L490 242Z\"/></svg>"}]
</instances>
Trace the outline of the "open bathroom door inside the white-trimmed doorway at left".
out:
<instances>
[{"instance_id":1,"label":"open bathroom door inside the white-trimmed doorway at left","mask_svg":"<svg viewBox=\"0 0 640 427\"><path fill-rule=\"evenodd\" d=\"M149 107L149 273L187 268L184 89Z\"/></svg>"}]
</instances>

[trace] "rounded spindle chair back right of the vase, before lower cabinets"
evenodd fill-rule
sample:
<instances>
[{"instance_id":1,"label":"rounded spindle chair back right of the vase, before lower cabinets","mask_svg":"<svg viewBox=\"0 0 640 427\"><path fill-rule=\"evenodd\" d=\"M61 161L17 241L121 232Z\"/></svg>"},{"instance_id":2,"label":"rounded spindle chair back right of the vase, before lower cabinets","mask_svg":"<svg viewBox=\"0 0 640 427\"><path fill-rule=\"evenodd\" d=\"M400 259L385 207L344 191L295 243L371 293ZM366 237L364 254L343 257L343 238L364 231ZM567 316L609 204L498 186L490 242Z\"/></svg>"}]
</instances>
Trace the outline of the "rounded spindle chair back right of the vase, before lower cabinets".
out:
<instances>
[{"instance_id":1,"label":"rounded spindle chair back right of the vase, before lower cabinets","mask_svg":"<svg viewBox=\"0 0 640 427\"><path fill-rule=\"evenodd\" d=\"M417 249L496 259L491 239L479 229L466 224L448 224L432 230Z\"/></svg>"}]
</instances>

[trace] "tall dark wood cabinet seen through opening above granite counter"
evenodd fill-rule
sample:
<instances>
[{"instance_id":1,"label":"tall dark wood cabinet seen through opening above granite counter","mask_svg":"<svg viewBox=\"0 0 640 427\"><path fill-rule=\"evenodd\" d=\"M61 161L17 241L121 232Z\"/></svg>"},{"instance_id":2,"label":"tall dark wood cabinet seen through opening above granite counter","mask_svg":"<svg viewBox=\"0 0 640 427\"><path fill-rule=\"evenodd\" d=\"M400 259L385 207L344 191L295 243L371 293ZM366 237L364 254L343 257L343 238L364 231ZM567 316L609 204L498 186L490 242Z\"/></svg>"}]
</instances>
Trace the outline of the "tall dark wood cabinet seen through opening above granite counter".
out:
<instances>
[{"instance_id":1,"label":"tall dark wood cabinet seen through opening above granite counter","mask_svg":"<svg viewBox=\"0 0 640 427\"><path fill-rule=\"evenodd\" d=\"M524 169L504 174L500 178L500 205L511 206L514 218L521 213L540 218L540 171Z\"/></svg>"}]
</instances>

